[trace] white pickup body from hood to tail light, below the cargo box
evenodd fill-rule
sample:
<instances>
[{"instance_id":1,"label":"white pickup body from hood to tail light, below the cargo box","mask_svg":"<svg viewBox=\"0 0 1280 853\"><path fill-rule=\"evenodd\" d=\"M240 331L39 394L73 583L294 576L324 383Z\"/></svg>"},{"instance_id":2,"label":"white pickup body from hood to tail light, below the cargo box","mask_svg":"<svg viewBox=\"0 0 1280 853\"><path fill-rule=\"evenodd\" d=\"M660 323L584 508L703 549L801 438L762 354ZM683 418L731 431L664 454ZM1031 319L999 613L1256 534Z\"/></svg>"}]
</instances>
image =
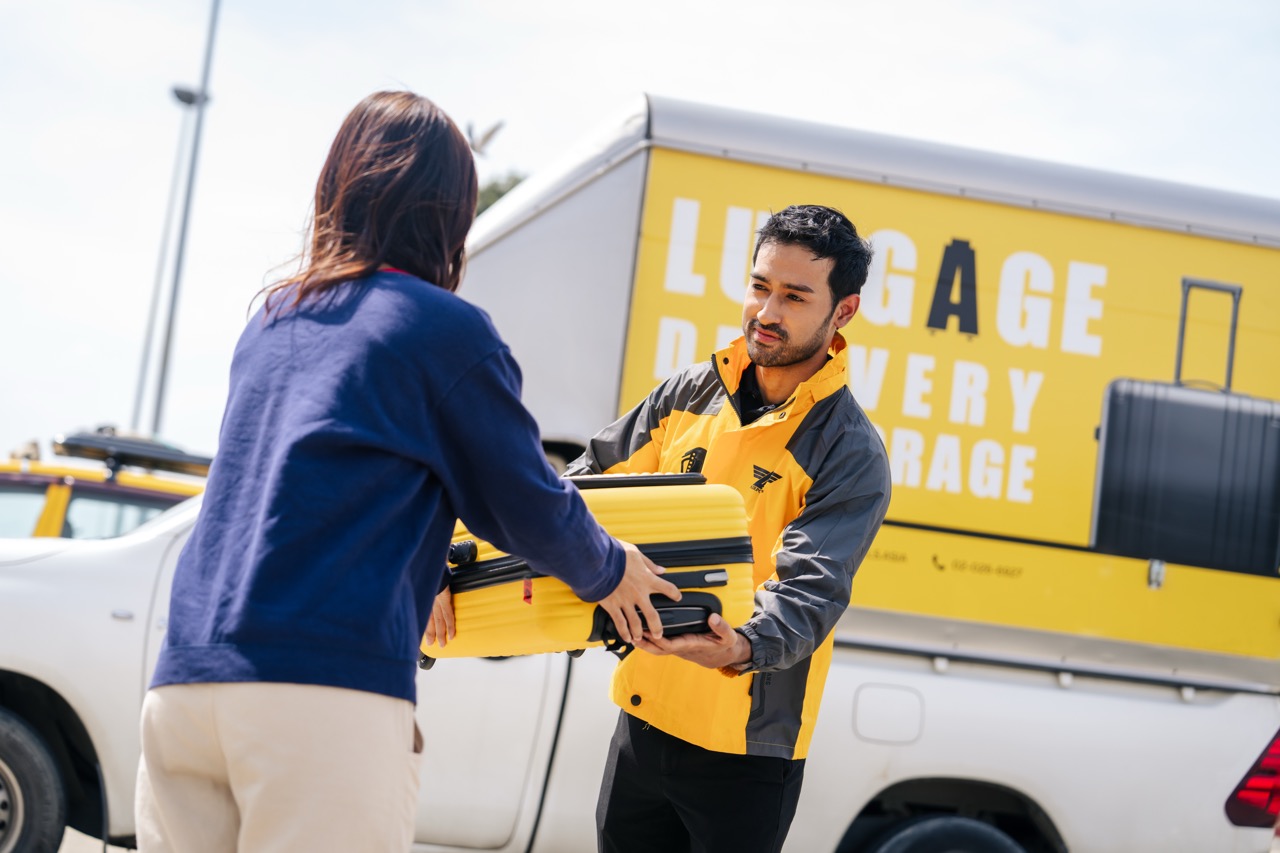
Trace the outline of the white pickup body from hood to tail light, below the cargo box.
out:
<instances>
[{"instance_id":1,"label":"white pickup body from hood to tail light, below the cargo box","mask_svg":"<svg viewBox=\"0 0 1280 853\"><path fill-rule=\"evenodd\" d=\"M116 539L0 540L4 853L56 849L67 824L129 843L142 694L198 502ZM886 844L920 821L972 834L965 850L1267 849L1271 831L1233 826L1224 804L1275 734L1270 688L1119 678L1052 660L1030 634L997 661L983 630L947 630L850 611L787 850L918 849ZM417 849L595 849L613 661L421 671Z\"/></svg>"}]
</instances>

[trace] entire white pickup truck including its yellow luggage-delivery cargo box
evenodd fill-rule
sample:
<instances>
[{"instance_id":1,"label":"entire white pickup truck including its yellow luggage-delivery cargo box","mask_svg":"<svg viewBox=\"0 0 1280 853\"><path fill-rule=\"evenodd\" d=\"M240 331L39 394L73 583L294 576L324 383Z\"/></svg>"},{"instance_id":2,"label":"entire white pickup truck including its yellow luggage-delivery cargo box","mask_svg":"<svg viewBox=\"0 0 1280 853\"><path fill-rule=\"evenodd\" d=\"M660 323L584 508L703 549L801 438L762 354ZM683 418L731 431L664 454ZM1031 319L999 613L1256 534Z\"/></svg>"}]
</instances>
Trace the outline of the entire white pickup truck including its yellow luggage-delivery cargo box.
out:
<instances>
[{"instance_id":1,"label":"entire white pickup truck including its yellow luggage-delivery cargo box","mask_svg":"<svg viewBox=\"0 0 1280 853\"><path fill-rule=\"evenodd\" d=\"M753 229L797 202L844 209L877 250L847 336L893 502L836 629L788 853L1266 850L1280 418L1166 416L1121 444L1105 401L1138 379L1204 411L1280 405L1280 201L646 99L468 242L462 293L511 343L549 455L739 334ZM1179 387L1184 361L1224 360L1225 388ZM138 712L195 515L0 540L0 853L51 849L64 821L133 834ZM612 666L422 671L422 849L594 849Z\"/></svg>"}]
</instances>

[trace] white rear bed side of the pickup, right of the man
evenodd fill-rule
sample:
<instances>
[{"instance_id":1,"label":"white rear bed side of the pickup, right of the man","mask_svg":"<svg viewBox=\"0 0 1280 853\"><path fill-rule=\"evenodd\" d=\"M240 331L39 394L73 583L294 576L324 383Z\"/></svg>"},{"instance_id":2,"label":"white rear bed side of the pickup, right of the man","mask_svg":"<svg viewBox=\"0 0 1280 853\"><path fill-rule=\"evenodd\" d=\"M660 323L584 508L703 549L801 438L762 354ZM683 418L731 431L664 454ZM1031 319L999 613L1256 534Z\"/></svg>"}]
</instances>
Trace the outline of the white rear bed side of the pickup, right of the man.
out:
<instances>
[{"instance_id":1,"label":"white rear bed side of the pickup, right of the man","mask_svg":"<svg viewBox=\"0 0 1280 853\"><path fill-rule=\"evenodd\" d=\"M1233 827L1222 803L1277 712L1275 697L837 651L786 849L833 850L832 816L936 779L1016 792L1069 850L1265 850L1270 833Z\"/></svg>"}]
</instances>

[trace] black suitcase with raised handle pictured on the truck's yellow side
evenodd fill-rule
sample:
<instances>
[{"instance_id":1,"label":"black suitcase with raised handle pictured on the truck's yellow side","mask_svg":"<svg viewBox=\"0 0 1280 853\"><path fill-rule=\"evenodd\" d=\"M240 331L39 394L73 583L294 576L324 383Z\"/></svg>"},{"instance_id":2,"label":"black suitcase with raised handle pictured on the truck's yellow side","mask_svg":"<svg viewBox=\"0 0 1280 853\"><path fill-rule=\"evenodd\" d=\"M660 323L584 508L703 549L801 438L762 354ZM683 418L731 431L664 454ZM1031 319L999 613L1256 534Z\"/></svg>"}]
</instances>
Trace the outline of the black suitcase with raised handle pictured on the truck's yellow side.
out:
<instances>
[{"instance_id":1,"label":"black suitcase with raised handle pictured on the truck's yellow side","mask_svg":"<svg viewBox=\"0 0 1280 853\"><path fill-rule=\"evenodd\" d=\"M1187 297L1231 295L1226 384L1183 383ZM1231 392L1242 288L1183 279L1172 383L1115 379L1098 428L1091 544L1124 557L1276 576L1280 402Z\"/></svg>"}]
</instances>

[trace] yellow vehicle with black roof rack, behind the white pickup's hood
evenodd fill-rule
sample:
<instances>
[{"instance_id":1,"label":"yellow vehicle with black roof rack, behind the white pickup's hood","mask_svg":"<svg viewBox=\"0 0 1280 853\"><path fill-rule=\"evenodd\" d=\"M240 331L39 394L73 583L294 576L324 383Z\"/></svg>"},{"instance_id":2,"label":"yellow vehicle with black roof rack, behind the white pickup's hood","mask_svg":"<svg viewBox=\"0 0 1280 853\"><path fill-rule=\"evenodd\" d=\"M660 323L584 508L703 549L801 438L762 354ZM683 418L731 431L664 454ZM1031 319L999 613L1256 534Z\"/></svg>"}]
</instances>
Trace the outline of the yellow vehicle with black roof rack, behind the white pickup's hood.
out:
<instances>
[{"instance_id":1,"label":"yellow vehicle with black roof rack, behind the white pickup's hood","mask_svg":"<svg viewBox=\"0 0 1280 853\"><path fill-rule=\"evenodd\" d=\"M109 539L198 494L212 461L110 426L36 442L0 460L0 538Z\"/></svg>"}]
</instances>

